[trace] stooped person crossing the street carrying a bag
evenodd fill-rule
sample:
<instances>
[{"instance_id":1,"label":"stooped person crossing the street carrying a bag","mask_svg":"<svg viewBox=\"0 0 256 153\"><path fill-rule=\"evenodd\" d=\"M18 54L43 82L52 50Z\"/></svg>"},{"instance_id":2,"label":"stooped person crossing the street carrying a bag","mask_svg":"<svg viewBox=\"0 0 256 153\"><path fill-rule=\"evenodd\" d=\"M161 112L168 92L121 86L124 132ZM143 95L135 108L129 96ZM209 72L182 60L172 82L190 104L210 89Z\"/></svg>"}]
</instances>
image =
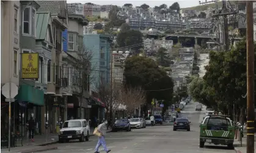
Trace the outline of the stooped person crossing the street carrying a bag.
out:
<instances>
[{"instance_id":1,"label":"stooped person crossing the street carrying a bag","mask_svg":"<svg viewBox=\"0 0 256 153\"><path fill-rule=\"evenodd\" d=\"M101 123L98 126L98 132L100 132L101 135L100 135L100 137L98 137L98 143L95 147L95 153L99 153L98 149L100 148L101 145L103 146L104 150L107 153L111 151L107 148L106 141L105 141L105 136L106 136L106 133L107 133L107 126L108 126L108 121L104 121L103 123Z\"/></svg>"}]
</instances>

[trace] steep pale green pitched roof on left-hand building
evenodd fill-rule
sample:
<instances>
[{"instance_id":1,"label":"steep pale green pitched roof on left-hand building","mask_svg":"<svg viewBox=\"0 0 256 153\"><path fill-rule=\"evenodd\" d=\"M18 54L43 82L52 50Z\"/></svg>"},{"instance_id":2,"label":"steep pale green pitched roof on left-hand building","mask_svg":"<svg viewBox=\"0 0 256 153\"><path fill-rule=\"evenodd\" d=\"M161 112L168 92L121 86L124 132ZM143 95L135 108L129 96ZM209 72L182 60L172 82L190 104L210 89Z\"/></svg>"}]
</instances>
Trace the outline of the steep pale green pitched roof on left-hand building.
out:
<instances>
[{"instance_id":1,"label":"steep pale green pitched roof on left-hand building","mask_svg":"<svg viewBox=\"0 0 256 153\"><path fill-rule=\"evenodd\" d=\"M37 39L45 40L46 32L48 29L49 19L51 18L50 12L37 12Z\"/></svg>"}]
</instances>

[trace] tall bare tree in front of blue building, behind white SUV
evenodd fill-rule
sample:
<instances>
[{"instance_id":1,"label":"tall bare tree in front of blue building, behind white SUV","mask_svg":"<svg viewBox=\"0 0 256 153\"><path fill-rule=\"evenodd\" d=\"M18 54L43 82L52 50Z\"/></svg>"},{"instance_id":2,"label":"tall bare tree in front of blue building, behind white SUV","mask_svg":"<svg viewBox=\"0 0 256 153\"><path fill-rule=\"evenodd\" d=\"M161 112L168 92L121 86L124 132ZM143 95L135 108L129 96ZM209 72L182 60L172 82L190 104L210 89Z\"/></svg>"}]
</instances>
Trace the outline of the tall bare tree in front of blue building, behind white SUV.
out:
<instances>
[{"instance_id":1,"label":"tall bare tree in front of blue building, behind white SUV","mask_svg":"<svg viewBox=\"0 0 256 153\"><path fill-rule=\"evenodd\" d=\"M90 65L92 52L85 46L78 48L78 52L71 54L71 66L73 67L72 88L73 93L77 94L80 99L80 118L82 118L82 99L86 96L86 91L89 91L90 84Z\"/></svg>"}]
</instances>

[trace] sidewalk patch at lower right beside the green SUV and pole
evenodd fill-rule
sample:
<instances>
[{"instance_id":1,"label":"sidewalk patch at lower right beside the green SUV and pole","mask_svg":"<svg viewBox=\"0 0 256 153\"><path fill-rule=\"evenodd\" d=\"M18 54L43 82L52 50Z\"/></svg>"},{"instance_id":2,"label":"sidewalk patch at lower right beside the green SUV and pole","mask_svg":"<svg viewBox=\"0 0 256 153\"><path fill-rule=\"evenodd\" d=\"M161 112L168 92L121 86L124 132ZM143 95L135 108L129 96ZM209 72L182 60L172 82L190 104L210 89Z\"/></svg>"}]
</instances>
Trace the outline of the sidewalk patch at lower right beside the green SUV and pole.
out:
<instances>
[{"instance_id":1,"label":"sidewalk patch at lower right beside the green SUV and pole","mask_svg":"<svg viewBox=\"0 0 256 153\"><path fill-rule=\"evenodd\" d=\"M234 141L234 147L235 147L235 152L236 153L246 153L246 140L247 139L247 135L246 135L246 130L244 130L244 137L242 138L242 146L240 141L238 141L238 139L235 139ZM254 146L256 145L256 135L254 135ZM256 153L255 149L254 152Z\"/></svg>"}]
</instances>

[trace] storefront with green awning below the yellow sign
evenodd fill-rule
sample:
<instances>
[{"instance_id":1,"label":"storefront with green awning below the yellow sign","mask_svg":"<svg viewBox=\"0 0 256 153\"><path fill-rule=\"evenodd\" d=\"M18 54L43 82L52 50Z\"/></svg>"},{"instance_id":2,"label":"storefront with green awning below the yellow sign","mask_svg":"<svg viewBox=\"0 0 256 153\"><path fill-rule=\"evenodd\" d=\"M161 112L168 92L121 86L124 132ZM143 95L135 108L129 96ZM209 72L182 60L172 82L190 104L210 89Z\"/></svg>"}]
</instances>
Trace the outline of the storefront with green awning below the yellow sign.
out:
<instances>
[{"instance_id":1,"label":"storefront with green awning below the yellow sign","mask_svg":"<svg viewBox=\"0 0 256 153\"><path fill-rule=\"evenodd\" d=\"M15 132L26 132L26 123L32 117L35 120L35 133L41 133L41 107L44 105L44 93L31 85L20 85L17 102L14 103Z\"/></svg>"}]
</instances>

